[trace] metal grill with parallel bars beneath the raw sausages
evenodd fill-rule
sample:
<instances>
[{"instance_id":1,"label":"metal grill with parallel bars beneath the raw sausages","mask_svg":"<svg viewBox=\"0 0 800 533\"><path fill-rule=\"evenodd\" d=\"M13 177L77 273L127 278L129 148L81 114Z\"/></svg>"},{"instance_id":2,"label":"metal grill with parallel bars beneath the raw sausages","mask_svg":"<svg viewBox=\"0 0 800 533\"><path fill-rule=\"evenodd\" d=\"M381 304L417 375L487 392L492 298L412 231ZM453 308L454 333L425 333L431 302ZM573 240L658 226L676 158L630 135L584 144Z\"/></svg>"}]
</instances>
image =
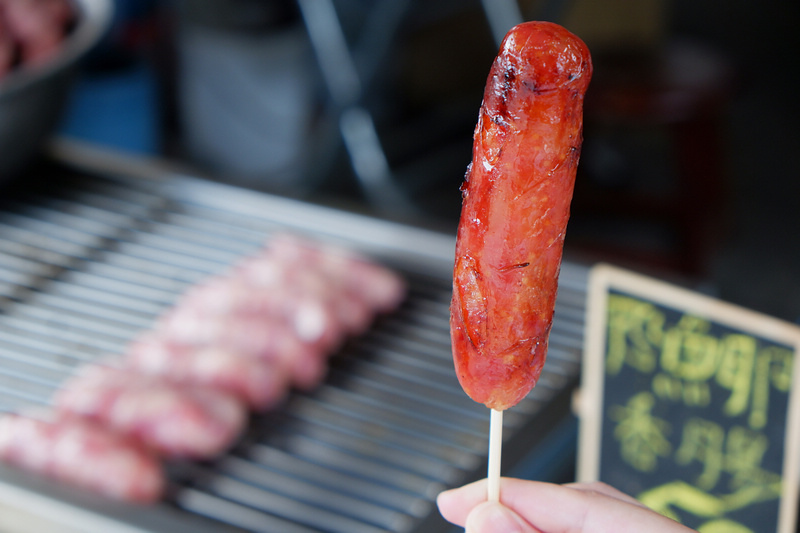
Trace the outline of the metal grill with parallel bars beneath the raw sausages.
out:
<instances>
[{"instance_id":1,"label":"metal grill with parallel bars beneath the raw sausages","mask_svg":"<svg viewBox=\"0 0 800 533\"><path fill-rule=\"evenodd\" d=\"M230 453L169 465L169 496L147 512L7 468L0 502L81 531L443 530L435 496L483 475L489 418L452 368L453 237L124 168L54 165L53 179L3 202L0 410L46 406L78 365L119 352L189 285L277 230L362 251L405 276L409 298L331 359L319 389L254 417ZM504 462L554 423L577 379L585 278L564 265L548 362L505 416Z\"/></svg>"}]
</instances>

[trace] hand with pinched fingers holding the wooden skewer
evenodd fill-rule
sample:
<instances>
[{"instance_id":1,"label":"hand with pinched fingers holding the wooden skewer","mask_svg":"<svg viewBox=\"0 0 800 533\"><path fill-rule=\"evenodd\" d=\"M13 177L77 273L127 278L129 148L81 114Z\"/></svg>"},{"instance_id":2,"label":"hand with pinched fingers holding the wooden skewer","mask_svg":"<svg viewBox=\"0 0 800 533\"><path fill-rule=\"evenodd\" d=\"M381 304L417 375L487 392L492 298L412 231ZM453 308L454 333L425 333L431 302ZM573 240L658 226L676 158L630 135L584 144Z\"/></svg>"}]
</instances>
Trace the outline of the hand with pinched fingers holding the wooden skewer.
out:
<instances>
[{"instance_id":1,"label":"hand with pinched fingers holding the wooden skewer","mask_svg":"<svg viewBox=\"0 0 800 533\"><path fill-rule=\"evenodd\" d=\"M486 480L442 492L439 512L467 533L690 533L605 483L555 485L503 478L502 505L486 501Z\"/></svg>"}]
</instances>

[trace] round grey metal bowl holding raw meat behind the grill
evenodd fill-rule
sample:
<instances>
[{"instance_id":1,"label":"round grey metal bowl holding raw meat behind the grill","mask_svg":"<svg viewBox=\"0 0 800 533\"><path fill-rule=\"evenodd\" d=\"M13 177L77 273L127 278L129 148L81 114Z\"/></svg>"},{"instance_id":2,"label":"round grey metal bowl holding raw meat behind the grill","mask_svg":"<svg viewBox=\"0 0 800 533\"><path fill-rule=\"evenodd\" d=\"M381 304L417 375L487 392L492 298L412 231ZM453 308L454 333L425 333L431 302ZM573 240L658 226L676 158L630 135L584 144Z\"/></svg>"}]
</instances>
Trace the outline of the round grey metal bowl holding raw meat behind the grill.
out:
<instances>
[{"instance_id":1,"label":"round grey metal bowl holding raw meat behind the grill","mask_svg":"<svg viewBox=\"0 0 800 533\"><path fill-rule=\"evenodd\" d=\"M76 22L58 55L0 80L0 184L39 154L58 125L78 62L111 22L111 0L72 0Z\"/></svg>"}]
</instances>

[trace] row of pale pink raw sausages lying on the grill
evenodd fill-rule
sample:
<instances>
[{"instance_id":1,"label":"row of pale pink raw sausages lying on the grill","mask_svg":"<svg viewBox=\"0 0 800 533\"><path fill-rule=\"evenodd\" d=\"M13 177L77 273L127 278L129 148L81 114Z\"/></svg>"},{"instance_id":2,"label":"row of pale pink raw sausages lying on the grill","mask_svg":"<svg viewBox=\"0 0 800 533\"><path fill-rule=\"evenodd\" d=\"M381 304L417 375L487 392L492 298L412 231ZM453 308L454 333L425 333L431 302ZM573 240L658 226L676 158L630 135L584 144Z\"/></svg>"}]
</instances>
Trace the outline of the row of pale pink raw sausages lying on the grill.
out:
<instances>
[{"instance_id":1,"label":"row of pale pink raw sausages lying on the grill","mask_svg":"<svg viewBox=\"0 0 800 533\"><path fill-rule=\"evenodd\" d=\"M395 272L348 251L275 236L185 291L121 356L79 368L45 416L0 418L0 460L115 498L157 500L162 460L223 453L250 411L317 386L330 354L405 290Z\"/></svg>"}]
</instances>

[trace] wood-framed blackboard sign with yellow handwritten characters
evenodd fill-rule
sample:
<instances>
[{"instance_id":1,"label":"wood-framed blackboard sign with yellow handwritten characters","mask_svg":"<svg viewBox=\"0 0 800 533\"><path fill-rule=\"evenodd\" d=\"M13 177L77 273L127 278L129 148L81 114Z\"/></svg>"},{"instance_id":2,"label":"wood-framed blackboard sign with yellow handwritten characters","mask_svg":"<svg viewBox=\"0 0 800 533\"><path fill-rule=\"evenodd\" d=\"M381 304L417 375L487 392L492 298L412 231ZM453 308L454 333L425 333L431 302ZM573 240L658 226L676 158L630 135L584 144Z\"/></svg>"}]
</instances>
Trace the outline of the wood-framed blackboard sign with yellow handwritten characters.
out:
<instances>
[{"instance_id":1,"label":"wood-framed blackboard sign with yellow handwritten characters","mask_svg":"<svg viewBox=\"0 0 800 533\"><path fill-rule=\"evenodd\" d=\"M579 480L701 533L795 532L800 328L607 265L586 328Z\"/></svg>"}]
</instances>

